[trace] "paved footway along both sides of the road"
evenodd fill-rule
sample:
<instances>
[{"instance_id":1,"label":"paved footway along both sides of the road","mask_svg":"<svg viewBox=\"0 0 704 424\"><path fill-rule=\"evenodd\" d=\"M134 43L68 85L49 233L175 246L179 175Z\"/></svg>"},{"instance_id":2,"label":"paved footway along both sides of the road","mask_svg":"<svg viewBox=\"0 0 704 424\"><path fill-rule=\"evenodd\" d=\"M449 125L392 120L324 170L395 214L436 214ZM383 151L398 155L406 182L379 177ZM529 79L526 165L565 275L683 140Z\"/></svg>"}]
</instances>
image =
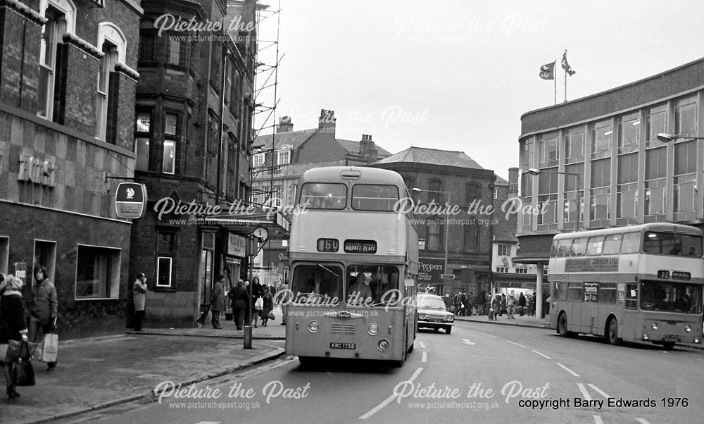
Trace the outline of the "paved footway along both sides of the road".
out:
<instances>
[{"instance_id":1,"label":"paved footway along both sides of the road","mask_svg":"<svg viewBox=\"0 0 704 424\"><path fill-rule=\"evenodd\" d=\"M267 327L252 328L252 349L244 349L244 332L232 321L222 329L149 328L142 332L91 339L59 340L58 366L49 372L34 361L37 384L18 387L20 398L0 397L1 423L45 423L130 401L155 401L161 382L187 386L218 378L284 355L285 326L281 310ZM548 328L548 317L516 315L456 316L457 321L490 325ZM146 322L149 325L149 321ZM698 347L700 346L689 346Z\"/></svg>"}]
</instances>

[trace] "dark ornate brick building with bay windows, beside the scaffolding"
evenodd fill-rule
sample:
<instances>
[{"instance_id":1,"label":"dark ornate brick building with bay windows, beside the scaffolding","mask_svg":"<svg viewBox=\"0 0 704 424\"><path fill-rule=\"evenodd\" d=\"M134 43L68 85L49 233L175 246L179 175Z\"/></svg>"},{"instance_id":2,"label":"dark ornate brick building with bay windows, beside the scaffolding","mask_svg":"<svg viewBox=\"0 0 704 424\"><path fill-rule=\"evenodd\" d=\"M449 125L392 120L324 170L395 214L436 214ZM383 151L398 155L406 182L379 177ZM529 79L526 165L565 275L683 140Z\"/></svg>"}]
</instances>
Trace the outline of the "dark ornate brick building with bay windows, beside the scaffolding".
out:
<instances>
[{"instance_id":1,"label":"dark ornate brick building with bay windows, beside the scaffolding","mask_svg":"<svg viewBox=\"0 0 704 424\"><path fill-rule=\"evenodd\" d=\"M203 220L233 218L225 213L159 216L158 202L224 211L247 203L257 6L255 0L144 0L142 7L133 137L135 178L146 184L150 200L132 227L130 267L153 282L147 320L192 323L210 301L216 275L227 270L237 280L248 273L253 224ZM166 15L225 24L218 32L161 31Z\"/></svg>"}]
</instances>

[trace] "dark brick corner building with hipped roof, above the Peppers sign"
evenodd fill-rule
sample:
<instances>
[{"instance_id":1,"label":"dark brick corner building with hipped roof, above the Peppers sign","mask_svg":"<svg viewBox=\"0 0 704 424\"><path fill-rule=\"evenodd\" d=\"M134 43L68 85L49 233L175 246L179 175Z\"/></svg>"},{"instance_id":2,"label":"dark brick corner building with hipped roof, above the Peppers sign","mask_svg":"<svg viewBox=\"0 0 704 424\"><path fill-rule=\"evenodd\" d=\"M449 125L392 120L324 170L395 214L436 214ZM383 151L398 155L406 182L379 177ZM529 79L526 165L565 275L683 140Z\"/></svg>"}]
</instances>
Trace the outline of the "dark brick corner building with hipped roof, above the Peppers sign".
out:
<instances>
[{"instance_id":1,"label":"dark brick corner building with hipped roof, above the Peppers sign","mask_svg":"<svg viewBox=\"0 0 704 424\"><path fill-rule=\"evenodd\" d=\"M428 269L434 268L425 275L421 270L419 282L436 287L439 294L490 290L493 217L479 208L493 202L494 171L482 168L461 151L422 147L410 147L370 166L396 171L409 189L427 190L411 192L413 199L421 204L448 203L461 210L450 216L447 230L444 214L416 214L420 262ZM449 199L437 192L449 192ZM474 207L470 208L472 204ZM444 269L446 235L448 267ZM454 274L455 280L443 282L443 273Z\"/></svg>"}]
</instances>

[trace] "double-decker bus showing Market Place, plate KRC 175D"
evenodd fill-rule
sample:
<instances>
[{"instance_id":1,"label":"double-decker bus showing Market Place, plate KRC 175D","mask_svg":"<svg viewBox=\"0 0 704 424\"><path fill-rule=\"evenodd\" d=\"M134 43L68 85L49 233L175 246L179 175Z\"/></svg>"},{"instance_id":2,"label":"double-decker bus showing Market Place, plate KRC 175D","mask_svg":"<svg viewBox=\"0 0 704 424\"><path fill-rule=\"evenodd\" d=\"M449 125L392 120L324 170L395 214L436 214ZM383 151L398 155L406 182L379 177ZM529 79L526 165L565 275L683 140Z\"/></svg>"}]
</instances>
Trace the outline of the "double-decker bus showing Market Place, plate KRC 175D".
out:
<instances>
[{"instance_id":1,"label":"double-decker bus showing Market Place, plate KRC 175D","mask_svg":"<svg viewBox=\"0 0 704 424\"><path fill-rule=\"evenodd\" d=\"M394 361L417 332L418 239L401 175L357 167L314 168L298 182L289 239L291 294L286 353ZM401 200L403 201L403 200Z\"/></svg>"}]
</instances>

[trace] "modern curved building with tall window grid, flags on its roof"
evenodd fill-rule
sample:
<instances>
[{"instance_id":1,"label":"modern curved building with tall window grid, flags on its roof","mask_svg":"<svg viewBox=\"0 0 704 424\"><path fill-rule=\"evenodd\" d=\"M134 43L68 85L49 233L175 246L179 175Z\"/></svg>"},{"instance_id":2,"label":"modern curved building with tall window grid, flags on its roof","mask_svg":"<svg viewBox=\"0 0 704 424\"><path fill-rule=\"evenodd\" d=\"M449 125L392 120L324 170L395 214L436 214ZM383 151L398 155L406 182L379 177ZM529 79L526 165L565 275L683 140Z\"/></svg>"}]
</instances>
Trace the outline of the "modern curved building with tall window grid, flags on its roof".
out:
<instances>
[{"instance_id":1,"label":"modern curved building with tall window grid, flags on its roof","mask_svg":"<svg viewBox=\"0 0 704 424\"><path fill-rule=\"evenodd\" d=\"M558 232L655 222L704 229L703 108L701 58L524 113L515 261L546 264Z\"/></svg>"}]
</instances>

